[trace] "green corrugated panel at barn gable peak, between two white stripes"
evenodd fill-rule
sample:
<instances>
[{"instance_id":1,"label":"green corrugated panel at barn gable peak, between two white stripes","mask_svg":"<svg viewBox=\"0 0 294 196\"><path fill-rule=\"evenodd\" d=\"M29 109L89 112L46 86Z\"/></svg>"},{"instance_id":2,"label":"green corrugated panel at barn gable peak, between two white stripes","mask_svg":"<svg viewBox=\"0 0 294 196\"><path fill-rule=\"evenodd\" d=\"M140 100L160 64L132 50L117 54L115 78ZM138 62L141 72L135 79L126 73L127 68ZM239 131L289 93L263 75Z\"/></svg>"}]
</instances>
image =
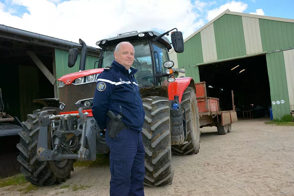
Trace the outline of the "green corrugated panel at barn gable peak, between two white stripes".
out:
<instances>
[{"instance_id":1,"label":"green corrugated panel at barn gable peak, between two white stripes","mask_svg":"<svg viewBox=\"0 0 294 196\"><path fill-rule=\"evenodd\" d=\"M218 60L246 55L242 16L225 14L213 24Z\"/></svg>"}]
</instances>

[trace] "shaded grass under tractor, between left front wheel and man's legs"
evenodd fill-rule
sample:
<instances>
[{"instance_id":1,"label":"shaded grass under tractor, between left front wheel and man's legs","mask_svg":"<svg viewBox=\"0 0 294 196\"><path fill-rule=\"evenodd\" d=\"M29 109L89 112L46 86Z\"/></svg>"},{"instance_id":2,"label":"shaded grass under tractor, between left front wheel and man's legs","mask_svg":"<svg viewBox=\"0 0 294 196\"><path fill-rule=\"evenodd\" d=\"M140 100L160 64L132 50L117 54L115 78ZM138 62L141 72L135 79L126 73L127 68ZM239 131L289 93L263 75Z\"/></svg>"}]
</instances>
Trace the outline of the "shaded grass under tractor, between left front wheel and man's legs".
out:
<instances>
[{"instance_id":1,"label":"shaded grass under tractor, between left front wheel and man's legs","mask_svg":"<svg viewBox=\"0 0 294 196\"><path fill-rule=\"evenodd\" d=\"M74 167L99 167L109 165L109 154L97 154L95 161L76 161Z\"/></svg>"}]
</instances>

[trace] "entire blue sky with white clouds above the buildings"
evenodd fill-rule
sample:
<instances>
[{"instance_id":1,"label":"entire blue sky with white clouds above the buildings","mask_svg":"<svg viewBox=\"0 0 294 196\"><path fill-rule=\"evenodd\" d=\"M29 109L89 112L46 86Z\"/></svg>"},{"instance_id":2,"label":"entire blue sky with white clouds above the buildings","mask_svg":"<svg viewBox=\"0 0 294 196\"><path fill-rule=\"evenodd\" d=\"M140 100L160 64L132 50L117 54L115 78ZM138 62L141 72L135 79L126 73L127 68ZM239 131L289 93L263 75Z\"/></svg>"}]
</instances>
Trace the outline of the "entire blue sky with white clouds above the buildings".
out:
<instances>
[{"instance_id":1,"label":"entire blue sky with white clouds above the buildings","mask_svg":"<svg viewBox=\"0 0 294 196\"><path fill-rule=\"evenodd\" d=\"M68 41L178 28L184 38L226 9L294 19L293 0L0 0L0 24Z\"/></svg>"}]
</instances>

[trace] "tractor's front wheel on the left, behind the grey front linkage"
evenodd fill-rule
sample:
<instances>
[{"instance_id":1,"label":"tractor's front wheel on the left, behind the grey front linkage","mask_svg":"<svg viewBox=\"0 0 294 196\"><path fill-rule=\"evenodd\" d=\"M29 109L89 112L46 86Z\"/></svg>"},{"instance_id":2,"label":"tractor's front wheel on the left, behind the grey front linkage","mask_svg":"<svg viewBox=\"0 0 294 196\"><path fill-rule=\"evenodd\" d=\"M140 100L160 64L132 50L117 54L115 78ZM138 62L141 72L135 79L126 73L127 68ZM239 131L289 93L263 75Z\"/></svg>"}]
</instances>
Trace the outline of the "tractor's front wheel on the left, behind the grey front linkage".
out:
<instances>
[{"instance_id":1,"label":"tractor's front wheel on the left, behind the grey front linkage","mask_svg":"<svg viewBox=\"0 0 294 196\"><path fill-rule=\"evenodd\" d=\"M20 153L17 157L21 163L20 171L25 175L25 179L34 185L49 186L56 183L65 182L70 177L71 171L74 170L75 160L62 161L39 161L37 159L37 143L39 138L39 113L46 110L46 115L58 114L58 108L42 108L35 110L33 114L27 115L28 119L24 128L19 133L20 142L16 145ZM48 126L48 148L51 145L51 129Z\"/></svg>"}]
</instances>

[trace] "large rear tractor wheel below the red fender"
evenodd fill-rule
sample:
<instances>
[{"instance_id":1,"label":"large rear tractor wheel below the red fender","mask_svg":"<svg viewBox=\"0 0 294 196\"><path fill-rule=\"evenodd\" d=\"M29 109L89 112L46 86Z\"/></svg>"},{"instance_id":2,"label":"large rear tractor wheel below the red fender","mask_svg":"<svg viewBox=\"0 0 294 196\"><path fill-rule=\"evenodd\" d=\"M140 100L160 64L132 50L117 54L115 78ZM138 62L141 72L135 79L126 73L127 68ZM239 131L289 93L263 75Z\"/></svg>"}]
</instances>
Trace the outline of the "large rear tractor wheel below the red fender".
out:
<instances>
[{"instance_id":1,"label":"large rear tractor wheel below the red fender","mask_svg":"<svg viewBox=\"0 0 294 196\"><path fill-rule=\"evenodd\" d=\"M194 88L188 86L181 100L181 106L186 109L187 139L188 143L173 145L172 152L178 155L193 155L199 152L200 148L200 123L198 106Z\"/></svg>"}]
</instances>

